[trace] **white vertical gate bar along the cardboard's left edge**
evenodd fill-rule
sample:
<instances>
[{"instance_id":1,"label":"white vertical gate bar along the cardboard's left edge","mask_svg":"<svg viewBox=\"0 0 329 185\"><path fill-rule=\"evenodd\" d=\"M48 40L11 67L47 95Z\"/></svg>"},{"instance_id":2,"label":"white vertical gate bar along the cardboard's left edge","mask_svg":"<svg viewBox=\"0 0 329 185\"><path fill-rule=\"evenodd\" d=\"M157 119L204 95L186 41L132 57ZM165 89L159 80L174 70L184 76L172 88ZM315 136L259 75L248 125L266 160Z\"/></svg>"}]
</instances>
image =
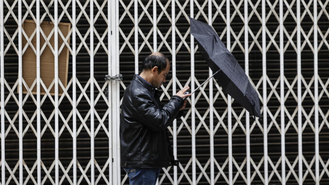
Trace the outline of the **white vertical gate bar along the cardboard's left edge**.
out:
<instances>
[{"instance_id":1,"label":"white vertical gate bar along the cardboard's left edge","mask_svg":"<svg viewBox=\"0 0 329 185\"><path fill-rule=\"evenodd\" d=\"M23 96L22 96L22 1L18 0L18 122L19 122L19 184L23 185Z\"/></svg>"}]
</instances>

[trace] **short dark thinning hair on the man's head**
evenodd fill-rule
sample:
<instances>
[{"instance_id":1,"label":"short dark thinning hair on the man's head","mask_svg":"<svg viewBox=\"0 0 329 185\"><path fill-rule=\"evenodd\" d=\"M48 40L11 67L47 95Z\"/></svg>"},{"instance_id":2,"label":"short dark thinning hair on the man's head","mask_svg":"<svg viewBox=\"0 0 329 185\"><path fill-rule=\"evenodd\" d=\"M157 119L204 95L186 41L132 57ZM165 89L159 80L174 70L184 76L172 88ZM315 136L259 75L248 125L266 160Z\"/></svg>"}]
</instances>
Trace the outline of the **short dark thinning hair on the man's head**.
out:
<instances>
[{"instance_id":1,"label":"short dark thinning hair on the man's head","mask_svg":"<svg viewBox=\"0 0 329 185\"><path fill-rule=\"evenodd\" d=\"M140 73L143 70L151 70L153 67L158 67L158 74L160 74L167 67L167 63L169 63L169 60L164 54L160 52L152 53L143 60Z\"/></svg>"}]
</instances>

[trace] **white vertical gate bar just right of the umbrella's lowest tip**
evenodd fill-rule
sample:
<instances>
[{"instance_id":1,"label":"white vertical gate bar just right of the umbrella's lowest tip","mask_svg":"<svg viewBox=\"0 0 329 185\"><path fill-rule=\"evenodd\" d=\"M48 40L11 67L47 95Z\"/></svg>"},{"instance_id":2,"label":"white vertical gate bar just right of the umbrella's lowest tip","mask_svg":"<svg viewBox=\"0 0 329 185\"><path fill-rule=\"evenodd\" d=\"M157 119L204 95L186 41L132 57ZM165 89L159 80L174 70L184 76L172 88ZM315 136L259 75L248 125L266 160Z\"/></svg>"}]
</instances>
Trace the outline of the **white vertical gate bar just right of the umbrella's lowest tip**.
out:
<instances>
[{"instance_id":1,"label":"white vertical gate bar just right of the umbrella's lowest tip","mask_svg":"<svg viewBox=\"0 0 329 185\"><path fill-rule=\"evenodd\" d=\"M264 130L264 184L268 184L267 167L267 94L266 94L266 15L265 0L262 0L262 54L263 54L263 130Z\"/></svg>"}]
</instances>

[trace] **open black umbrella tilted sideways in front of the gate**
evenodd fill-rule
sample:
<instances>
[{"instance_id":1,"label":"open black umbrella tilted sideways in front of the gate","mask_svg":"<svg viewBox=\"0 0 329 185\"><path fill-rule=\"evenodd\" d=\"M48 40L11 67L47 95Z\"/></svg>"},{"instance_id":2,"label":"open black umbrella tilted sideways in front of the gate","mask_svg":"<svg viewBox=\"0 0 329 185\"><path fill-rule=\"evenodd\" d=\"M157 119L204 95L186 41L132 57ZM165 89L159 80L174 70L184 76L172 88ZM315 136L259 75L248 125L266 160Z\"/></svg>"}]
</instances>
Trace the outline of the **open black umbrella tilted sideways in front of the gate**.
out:
<instances>
[{"instance_id":1,"label":"open black umbrella tilted sideways in front of the gate","mask_svg":"<svg viewBox=\"0 0 329 185\"><path fill-rule=\"evenodd\" d=\"M225 47L214 29L190 17L191 34L196 38L199 51L219 85L251 115L261 117L259 98L242 67Z\"/></svg>"}]
</instances>

